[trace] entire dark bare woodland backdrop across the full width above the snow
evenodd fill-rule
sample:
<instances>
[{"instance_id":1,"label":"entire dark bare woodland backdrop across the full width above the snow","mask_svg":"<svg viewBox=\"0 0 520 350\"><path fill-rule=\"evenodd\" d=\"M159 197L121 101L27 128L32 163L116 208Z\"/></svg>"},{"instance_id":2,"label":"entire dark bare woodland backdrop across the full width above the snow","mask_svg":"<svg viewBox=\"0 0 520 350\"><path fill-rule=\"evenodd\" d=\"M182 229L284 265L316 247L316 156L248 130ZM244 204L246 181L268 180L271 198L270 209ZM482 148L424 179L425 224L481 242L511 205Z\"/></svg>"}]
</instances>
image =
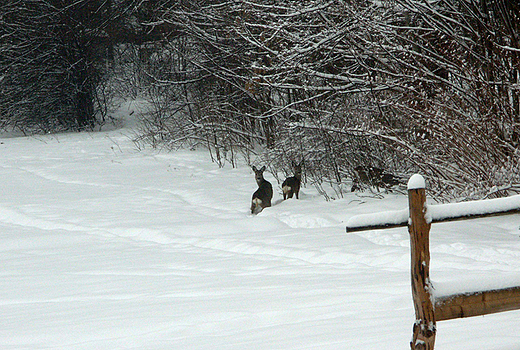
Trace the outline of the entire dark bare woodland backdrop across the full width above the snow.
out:
<instances>
[{"instance_id":1,"label":"entire dark bare woodland backdrop across the full width above the snow","mask_svg":"<svg viewBox=\"0 0 520 350\"><path fill-rule=\"evenodd\" d=\"M139 144L303 161L335 196L421 172L440 201L496 198L520 193L519 41L509 0L9 0L0 128L142 100Z\"/></svg>"}]
</instances>

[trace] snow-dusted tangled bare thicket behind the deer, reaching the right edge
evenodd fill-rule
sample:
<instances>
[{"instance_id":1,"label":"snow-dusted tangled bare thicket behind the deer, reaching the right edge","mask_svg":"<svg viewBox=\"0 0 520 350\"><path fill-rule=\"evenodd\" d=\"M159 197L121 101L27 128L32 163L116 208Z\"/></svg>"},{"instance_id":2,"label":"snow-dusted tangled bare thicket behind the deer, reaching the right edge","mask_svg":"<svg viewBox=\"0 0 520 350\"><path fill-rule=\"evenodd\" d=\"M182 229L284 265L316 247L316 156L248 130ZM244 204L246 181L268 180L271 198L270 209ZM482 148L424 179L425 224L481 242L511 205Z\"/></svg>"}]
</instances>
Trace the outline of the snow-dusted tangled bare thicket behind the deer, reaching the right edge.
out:
<instances>
[{"instance_id":1,"label":"snow-dusted tangled bare thicket behind the deer, reaching the right edge","mask_svg":"<svg viewBox=\"0 0 520 350\"><path fill-rule=\"evenodd\" d=\"M420 171L441 199L518 192L519 6L179 2L156 12L177 35L149 62L142 137L274 174L305 159L339 189L365 166Z\"/></svg>"}]
</instances>

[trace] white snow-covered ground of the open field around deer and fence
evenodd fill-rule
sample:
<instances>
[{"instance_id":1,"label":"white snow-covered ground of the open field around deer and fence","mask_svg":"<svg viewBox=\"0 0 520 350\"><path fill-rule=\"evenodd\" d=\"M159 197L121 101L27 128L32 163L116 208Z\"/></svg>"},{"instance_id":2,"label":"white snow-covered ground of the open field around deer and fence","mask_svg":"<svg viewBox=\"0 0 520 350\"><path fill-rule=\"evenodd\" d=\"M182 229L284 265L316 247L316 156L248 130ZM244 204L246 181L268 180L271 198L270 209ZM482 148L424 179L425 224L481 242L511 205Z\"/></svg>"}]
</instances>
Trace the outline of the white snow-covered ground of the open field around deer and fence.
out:
<instances>
[{"instance_id":1,"label":"white snow-covered ground of the open field around deer and fence","mask_svg":"<svg viewBox=\"0 0 520 350\"><path fill-rule=\"evenodd\" d=\"M249 214L245 165L137 151L121 130L0 141L0 349L408 349L406 228L346 233L403 195ZM520 284L520 215L435 224L441 291ZM438 323L436 349L520 349L520 311Z\"/></svg>"}]
</instances>

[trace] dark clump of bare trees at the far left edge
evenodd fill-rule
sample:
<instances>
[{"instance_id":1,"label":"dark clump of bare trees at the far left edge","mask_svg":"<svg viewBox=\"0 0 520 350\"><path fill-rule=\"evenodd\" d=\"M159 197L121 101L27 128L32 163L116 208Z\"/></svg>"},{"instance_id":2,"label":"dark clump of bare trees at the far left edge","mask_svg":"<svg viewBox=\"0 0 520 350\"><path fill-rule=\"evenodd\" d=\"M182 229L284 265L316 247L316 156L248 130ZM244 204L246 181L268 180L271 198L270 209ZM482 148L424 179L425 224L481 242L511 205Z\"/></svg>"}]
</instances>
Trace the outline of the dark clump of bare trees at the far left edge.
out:
<instances>
[{"instance_id":1,"label":"dark clump of bare trees at the far left edge","mask_svg":"<svg viewBox=\"0 0 520 350\"><path fill-rule=\"evenodd\" d=\"M112 55L112 1L0 5L0 119L30 132L92 128Z\"/></svg>"}]
</instances>

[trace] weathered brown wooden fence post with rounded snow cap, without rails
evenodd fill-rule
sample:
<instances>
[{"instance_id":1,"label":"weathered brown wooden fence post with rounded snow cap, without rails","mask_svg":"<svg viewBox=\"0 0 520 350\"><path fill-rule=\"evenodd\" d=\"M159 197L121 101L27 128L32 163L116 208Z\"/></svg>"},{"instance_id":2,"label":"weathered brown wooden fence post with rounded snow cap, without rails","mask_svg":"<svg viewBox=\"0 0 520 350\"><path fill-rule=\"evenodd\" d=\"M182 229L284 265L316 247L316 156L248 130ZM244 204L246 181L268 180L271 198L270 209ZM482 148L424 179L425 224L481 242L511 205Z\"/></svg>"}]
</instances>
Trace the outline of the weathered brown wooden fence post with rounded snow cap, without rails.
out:
<instances>
[{"instance_id":1,"label":"weathered brown wooden fence post with rounded snow cap, without rails","mask_svg":"<svg viewBox=\"0 0 520 350\"><path fill-rule=\"evenodd\" d=\"M410 221L412 296L415 307L415 323L410 343L412 350L433 350L435 345L435 311L430 283L430 226L426 218L425 181L421 175L413 175L408 181L408 205Z\"/></svg>"}]
</instances>

